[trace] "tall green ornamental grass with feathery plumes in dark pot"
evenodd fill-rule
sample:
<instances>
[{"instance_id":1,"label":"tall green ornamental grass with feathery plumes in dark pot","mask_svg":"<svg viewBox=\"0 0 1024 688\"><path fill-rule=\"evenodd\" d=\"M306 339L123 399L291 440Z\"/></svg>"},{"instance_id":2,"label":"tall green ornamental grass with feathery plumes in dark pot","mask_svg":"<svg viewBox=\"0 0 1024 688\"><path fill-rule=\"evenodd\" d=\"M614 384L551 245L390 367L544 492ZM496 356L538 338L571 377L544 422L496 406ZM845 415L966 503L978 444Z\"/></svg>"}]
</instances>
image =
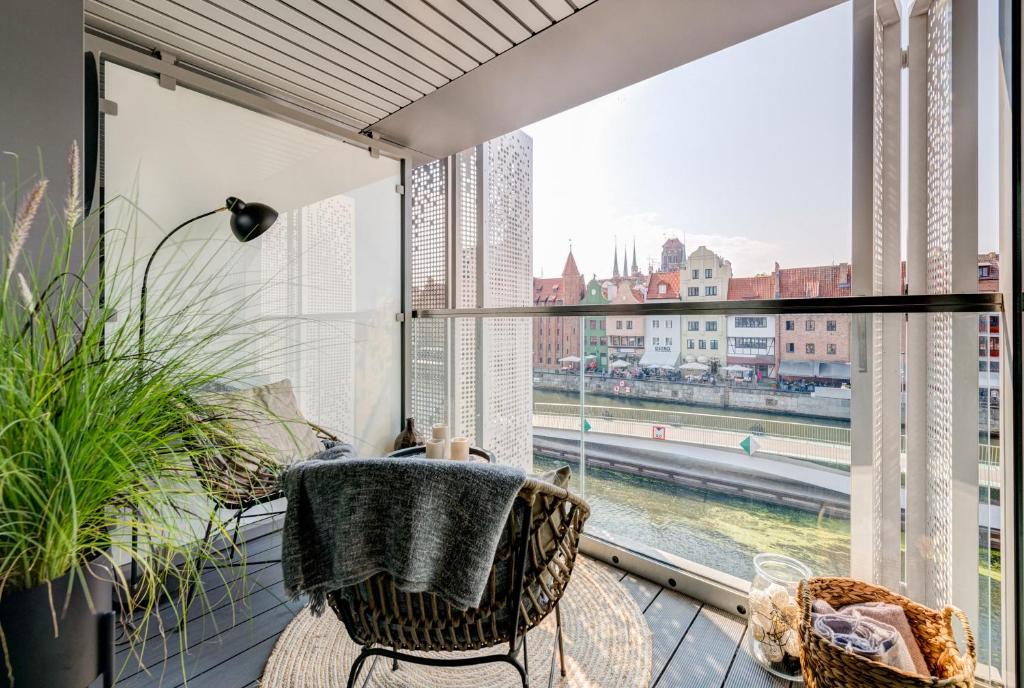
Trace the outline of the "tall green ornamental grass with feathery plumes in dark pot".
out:
<instances>
[{"instance_id":1,"label":"tall green ornamental grass with feathery plumes in dark pot","mask_svg":"<svg viewBox=\"0 0 1024 688\"><path fill-rule=\"evenodd\" d=\"M73 179L77 159L74 149ZM162 598L183 614L188 584L218 556L194 536L208 512L188 506L203 489L193 464L245 448L202 401L202 391L229 372L216 346L226 326L209 318L188 326L196 318L171 315L167 327L153 328L150 353L138 356L127 295L112 296L88 277L98 273L97 251L83 241L80 207L74 188L63 208L47 204L45 180L19 203L0 198L0 227L7 224L0 231L5 688L89 685L103 669L97 657L113 657L112 597L140 619L129 640L146 637L147 612ZM46 260L26 255L34 232ZM238 350L238 338L230 347ZM126 573L131 560L137 583ZM169 588L170 570L185 585Z\"/></svg>"}]
</instances>

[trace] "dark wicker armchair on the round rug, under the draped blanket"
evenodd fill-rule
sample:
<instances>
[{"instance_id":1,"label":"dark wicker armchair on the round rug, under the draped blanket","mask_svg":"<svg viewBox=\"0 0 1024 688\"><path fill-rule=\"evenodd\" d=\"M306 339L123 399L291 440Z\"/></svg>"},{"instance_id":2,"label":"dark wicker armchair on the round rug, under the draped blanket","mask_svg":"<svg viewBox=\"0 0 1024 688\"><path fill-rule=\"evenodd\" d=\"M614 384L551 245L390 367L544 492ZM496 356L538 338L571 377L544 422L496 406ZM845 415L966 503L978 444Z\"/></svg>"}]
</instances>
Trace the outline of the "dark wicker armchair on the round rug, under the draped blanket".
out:
<instances>
[{"instance_id":1,"label":"dark wicker armchair on the round rug, under the draped blanket","mask_svg":"<svg viewBox=\"0 0 1024 688\"><path fill-rule=\"evenodd\" d=\"M352 663L353 688L364 663L383 656L430 665L467 666L485 662L511 664L522 685L529 685L527 632L555 612L562 676L561 616L558 602L572 574L584 522L590 507L571 492L527 479L515 500L505 533L495 554L483 602L456 609L429 593L399 591L386 573L331 593L331 608L352 640L362 646ZM468 657L435 657L410 651L456 652L508 645L508 651ZM520 652L522 661L519 660ZM552 672L553 677L553 672Z\"/></svg>"}]
</instances>

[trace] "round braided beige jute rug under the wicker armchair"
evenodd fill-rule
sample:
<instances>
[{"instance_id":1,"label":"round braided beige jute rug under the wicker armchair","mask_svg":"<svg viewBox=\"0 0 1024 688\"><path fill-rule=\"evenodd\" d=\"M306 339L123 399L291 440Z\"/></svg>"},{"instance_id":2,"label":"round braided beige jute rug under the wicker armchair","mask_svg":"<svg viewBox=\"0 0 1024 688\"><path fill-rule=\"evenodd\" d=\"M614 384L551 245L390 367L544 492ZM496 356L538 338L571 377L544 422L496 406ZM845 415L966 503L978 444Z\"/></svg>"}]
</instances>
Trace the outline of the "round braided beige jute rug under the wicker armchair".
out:
<instances>
[{"instance_id":1,"label":"round braided beige jute rug under the wicker armchair","mask_svg":"<svg viewBox=\"0 0 1024 688\"><path fill-rule=\"evenodd\" d=\"M650 629L629 593L601 565L581 557L561 601L565 643L564 679L559 688L646 688L650 684ZM528 636L529 682L547 686L555 648L555 615ZM341 688L359 648L345 627L328 610L322 617L302 611L278 639L267 659L261 688ZM489 648L459 654L494 654ZM436 655L435 655L436 656ZM436 668L400 662L367 662L359 677L368 688L520 688L519 677L508 664Z\"/></svg>"}]
</instances>

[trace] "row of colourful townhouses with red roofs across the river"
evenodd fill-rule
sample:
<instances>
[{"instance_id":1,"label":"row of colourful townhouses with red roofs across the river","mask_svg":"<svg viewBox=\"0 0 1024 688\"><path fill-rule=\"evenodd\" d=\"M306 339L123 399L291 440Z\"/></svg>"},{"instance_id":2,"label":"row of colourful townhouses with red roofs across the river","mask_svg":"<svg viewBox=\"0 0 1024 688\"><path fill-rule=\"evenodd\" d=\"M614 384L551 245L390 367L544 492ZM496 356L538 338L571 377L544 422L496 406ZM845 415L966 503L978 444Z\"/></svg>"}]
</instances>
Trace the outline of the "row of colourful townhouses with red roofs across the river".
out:
<instances>
[{"instance_id":1,"label":"row of colourful townhouses with red roofs across the river","mask_svg":"<svg viewBox=\"0 0 1024 688\"><path fill-rule=\"evenodd\" d=\"M979 256L979 290L998 285L998 256ZM634 258L631 274L617 269L607 280L585 283L569 253L561 277L535 280L535 305L624 304L645 302L746 301L773 298L830 298L851 295L849 263L783 268L770 274L733 276L730 262L707 247L686 254L678 240L663 248L659 270L642 274ZM852 317L844 313L777 316L615 315L536 318L534 367L574 367L580 357L592 370L615 364L673 369L695 361L713 372L739 371L757 379L806 379L840 385L850 380ZM979 380L998 373L998 319L982 316L979 326Z\"/></svg>"}]
</instances>

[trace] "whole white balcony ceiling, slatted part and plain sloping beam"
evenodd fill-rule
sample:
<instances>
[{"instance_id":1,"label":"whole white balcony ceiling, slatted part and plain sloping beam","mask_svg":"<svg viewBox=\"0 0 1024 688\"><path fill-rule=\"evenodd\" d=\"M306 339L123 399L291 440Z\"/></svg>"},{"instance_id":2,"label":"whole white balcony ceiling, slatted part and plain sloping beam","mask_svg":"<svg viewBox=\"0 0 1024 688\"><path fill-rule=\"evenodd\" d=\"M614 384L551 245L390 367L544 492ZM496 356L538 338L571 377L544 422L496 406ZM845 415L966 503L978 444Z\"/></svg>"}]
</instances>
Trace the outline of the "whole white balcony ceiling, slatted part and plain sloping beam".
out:
<instances>
[{"instance_id":1,"label":"whole white balcony ceiling, slatted part and plain sloping beam","mask_svg":"<svg viewBox=\"0 0 1024 688\"><path fill-rule=\"evenodd\" d=\"M839 1L85 0L85 19L437 157Z\"/></svg>"}]
</instances>

